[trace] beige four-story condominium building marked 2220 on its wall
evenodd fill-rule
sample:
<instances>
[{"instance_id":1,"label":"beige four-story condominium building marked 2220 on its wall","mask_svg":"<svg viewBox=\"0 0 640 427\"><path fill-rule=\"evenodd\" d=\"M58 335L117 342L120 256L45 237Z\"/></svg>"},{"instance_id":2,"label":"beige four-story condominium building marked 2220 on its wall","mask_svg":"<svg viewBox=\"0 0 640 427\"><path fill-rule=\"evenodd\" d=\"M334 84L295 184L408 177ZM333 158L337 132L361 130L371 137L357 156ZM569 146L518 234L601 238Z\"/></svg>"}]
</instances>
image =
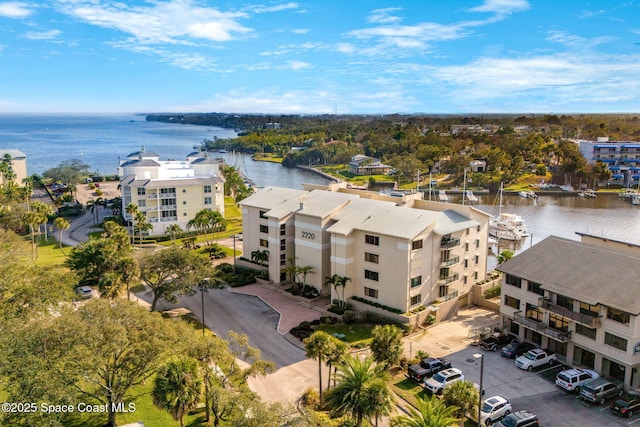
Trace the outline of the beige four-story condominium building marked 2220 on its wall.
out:
<instances>
[{"instance_id":1,"label":"beige four-story condominium building marked 2220 on its wall","mask_svg":"<svg viewBox=\"0 0 640 427\"><path fill-rule=\"evenodd\" d=\"M464 298L487 269L489 215L431 202L422 193L391 197L344 184L305 190L266 187L240 202L244 252L269 252L269 277L311 266L306 283L339 298L325 278L348 277L344 298L402 312Z\"/></svg>"}]
</instances>

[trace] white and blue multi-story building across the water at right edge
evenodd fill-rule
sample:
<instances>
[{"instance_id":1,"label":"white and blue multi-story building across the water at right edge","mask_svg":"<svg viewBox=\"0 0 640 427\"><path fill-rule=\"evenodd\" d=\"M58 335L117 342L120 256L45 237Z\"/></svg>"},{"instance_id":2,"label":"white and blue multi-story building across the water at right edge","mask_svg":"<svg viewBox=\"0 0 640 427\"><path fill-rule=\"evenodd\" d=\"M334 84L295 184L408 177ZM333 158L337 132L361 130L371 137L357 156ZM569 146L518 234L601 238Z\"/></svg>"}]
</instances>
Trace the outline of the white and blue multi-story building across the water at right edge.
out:
<instances>
[{"instance_id":1,"label":"white and blue multi-story building across the water at right edge","mask_svg":"<svg viewBox=\"0 0 640 427\"><path fill-rule=\"evenodd\" d=\"M609 141L598 138L596 141L578 141L580 154L593 164L603 162L611 171L611 183L632 186L640 183L640 142Z\"/></svg>"}]
</instances>

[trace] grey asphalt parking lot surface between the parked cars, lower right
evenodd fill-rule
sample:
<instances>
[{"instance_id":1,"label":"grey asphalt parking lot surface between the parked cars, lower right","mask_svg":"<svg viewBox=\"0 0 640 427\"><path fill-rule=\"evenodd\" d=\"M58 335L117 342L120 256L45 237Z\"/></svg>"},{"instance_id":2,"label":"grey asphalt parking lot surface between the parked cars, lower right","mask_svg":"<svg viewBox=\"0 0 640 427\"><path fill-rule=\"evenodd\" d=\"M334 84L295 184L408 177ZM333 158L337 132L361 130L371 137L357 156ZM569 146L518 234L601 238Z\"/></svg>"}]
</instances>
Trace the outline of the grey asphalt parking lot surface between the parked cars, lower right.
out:
<instances>
[{"instance_id":1,"label":"grey asphalt parking lot surface between the parked cars, lower right","mask_svg":"<svg viewBox=\"0 0 640 427\"><path fill-rule=\"evenodd\" d=\"M483 351L478 346L468 346L451 353L446 358L462 370L465 380L480 383L480 359L484 355L483 388L485 397L500 395L511 402L513 411L527 409L536 414L541 426L592 427L638 426L640 414L633 418L621 418L605 405L589 405L555 386L555 376L562 365L545 367L533 372L515 366L513 359L500 355L500 351Z\"/></svg>"}]
</instances>

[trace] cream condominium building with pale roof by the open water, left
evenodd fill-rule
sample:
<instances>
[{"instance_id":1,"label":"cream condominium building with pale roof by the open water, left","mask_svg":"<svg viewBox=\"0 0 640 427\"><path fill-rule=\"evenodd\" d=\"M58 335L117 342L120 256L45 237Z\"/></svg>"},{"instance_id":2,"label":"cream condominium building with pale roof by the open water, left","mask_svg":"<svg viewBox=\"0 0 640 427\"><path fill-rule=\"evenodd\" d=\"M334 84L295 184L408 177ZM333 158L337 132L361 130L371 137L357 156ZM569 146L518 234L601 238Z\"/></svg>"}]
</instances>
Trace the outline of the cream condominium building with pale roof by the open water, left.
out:
<instances>
[{"instance_id":1,"label":"cream condominium building with pale roof by the open water, left","mask_svg":"<svg viewBox=\"0 0 640 427\"><path fill-rule=\"evenodd\" d=\"M144 147L121 160L118 174L122 194L122 215L130 221L130 203L144 212L153 226L150 235L165 234L177 224L183 230L202 209L224 215L224 179L220 160L194 152L186 160L160 160Z\"/></svg>"}]
</instances>

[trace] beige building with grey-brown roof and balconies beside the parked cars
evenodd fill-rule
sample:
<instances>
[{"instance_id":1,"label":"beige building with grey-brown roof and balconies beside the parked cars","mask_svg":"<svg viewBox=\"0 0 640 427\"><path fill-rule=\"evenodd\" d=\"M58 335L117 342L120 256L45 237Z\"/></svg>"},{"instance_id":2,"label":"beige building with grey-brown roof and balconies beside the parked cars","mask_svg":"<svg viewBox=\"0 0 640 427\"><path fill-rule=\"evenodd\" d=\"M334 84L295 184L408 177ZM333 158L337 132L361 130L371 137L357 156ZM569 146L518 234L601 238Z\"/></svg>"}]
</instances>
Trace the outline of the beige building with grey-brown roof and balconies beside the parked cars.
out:
<instances>
[{"instance_id":1,"label":"beige building with grey-brown roof and balconies beside the parked cars","mask_svg":"<svg viewBox=\"0 0 640 427\"><path fill-rule=\"evenodd\" d=\"M640 246L547 237L500 265L505 329L640 388Z\"/></svg>"}]
</instances>

